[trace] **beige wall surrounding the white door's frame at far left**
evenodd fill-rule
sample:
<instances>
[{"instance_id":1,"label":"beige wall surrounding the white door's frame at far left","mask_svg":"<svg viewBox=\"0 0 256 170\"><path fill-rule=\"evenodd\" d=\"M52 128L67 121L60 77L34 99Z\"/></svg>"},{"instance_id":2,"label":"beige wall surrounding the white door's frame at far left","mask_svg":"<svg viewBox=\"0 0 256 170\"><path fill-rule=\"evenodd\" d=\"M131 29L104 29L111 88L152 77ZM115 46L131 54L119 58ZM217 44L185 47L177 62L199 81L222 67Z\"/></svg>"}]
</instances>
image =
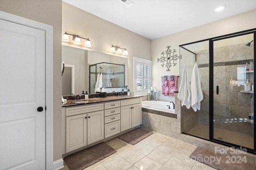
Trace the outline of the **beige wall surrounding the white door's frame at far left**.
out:
<instances>
[{"instance_id":1,"label":"beige wall surrounding the white door's frame at far left","mask_svg":"<svg viewBox=\"0 0 256 170\"><path fill-rule=\"evenodd\" d=\"M53 138L54 160L61 153L61 38L62 1L60 0L0 0L0 10L53 26Z\"/></svg>"}]
</instances>

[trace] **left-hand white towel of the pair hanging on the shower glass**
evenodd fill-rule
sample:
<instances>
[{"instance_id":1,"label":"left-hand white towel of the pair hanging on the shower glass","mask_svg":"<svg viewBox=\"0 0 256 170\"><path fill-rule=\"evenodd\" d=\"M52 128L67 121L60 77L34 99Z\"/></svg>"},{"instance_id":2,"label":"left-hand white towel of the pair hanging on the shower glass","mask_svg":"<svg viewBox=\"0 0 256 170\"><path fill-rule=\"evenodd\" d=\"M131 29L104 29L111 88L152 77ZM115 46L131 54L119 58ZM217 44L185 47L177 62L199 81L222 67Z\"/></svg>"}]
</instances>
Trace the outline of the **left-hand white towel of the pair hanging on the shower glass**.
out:
<instances>
[{"instance_id":1,"label":"left-hand white towel of the pair hanging on the shower glass","mask_svg":"<svg viewBox=\"0 0 256 170\"><path fill-rule=\"evenodd\" d=\"M181 106L185 105L187 109L190 108L190 84L187 78L187 68L186 64L184 65L182 72L182 79L180 82L180 88L178 93L178 99L181 101Z\"/></svg>"}]
</instances>

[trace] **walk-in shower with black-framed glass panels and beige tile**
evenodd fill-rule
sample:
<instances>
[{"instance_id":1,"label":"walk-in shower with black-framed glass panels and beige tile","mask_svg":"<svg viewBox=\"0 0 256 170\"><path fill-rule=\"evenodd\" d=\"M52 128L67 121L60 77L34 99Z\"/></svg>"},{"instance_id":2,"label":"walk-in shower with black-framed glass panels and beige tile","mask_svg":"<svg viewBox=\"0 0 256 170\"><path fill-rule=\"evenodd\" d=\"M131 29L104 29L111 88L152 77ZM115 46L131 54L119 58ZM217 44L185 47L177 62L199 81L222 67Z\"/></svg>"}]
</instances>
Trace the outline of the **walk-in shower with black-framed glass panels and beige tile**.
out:
<instances>
[{"instance_id":1,"label":"walk-in shower with black-framed glass panels and beige tile","mask_svg":"<svg viewBox=\"0 0 256 170\"><path fill-rule=\"evenodd\" d=\"M255 39L254 29L180 45L180 75L186 64L190 82L197 63L204 95L200 110L182 107L183 133L255 153Z\"/></svg>"}]
</instances>

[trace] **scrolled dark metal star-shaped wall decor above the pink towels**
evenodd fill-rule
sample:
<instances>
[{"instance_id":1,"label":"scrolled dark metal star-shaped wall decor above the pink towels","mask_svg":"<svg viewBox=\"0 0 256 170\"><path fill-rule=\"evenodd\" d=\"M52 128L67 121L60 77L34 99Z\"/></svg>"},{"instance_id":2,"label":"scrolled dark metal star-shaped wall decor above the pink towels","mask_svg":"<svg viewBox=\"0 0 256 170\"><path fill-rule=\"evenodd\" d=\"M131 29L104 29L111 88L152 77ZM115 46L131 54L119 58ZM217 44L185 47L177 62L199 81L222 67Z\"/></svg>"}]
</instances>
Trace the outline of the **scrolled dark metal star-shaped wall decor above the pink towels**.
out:
<instances>
[{"instance_id":1,"label":"scrolled dark metal star-shaped wall decor above the pink towels","mask_svg":"<svg viewBox=\"0 0 256 170\"><path fill-rule=\"evenodd\" d=\"M161 55L163 55L162 57L160 57L160 59L157 59L157 62L161 62L163 64L161 64L162 67L166 67L167 70L166 71L170 71L170 67L175 66L177 63L175 63L175 61L177 61L177 59L181 59L181 56L178 56L177 54L174 54L176 52L175 49L173 49L173 51L170 49L171 46L167 46L167 50L161 53Z\"/></svg>"}]
</instances>

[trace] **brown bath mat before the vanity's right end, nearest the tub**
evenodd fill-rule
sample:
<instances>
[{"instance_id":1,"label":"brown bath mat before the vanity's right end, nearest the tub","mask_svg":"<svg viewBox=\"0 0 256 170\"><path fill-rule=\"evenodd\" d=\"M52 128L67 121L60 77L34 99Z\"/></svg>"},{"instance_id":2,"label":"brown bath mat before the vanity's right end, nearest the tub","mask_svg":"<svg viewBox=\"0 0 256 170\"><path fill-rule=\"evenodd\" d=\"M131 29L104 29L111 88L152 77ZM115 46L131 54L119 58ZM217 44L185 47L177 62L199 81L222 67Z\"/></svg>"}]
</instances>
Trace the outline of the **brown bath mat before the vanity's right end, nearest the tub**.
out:
<instances>
[{"instance_id":1,"label":"brown bath mat before the vanity's right end, nearest the tub","mask_svg":"<svg viewBox=\"0 0 256 170\"><path fill-rule=\"evenodd\" d=\"M135 145L136 143L140 142L141 140L145 139L153 132L146 131L141 127L134 129L130 132L124 133L123 135L118 136L119 139L130 143L131 145Z\"/></svg>"}]
</instances>

